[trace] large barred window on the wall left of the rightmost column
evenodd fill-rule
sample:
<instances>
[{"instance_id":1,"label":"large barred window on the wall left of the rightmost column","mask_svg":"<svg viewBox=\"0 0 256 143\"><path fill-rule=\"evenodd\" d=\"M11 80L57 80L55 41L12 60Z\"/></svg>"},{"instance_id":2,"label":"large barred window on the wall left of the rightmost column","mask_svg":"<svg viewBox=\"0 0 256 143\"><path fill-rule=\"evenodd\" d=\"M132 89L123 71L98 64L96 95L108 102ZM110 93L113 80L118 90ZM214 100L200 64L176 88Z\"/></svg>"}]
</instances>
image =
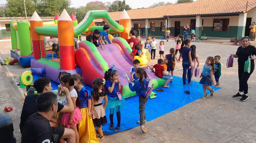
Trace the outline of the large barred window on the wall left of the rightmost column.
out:
<instances>
[{"instance_id":1,"label":"large barred window on the wall left of the rightmost column","mask_svg":"<svg viewBox=\"0 0 256 143\"><path fill-rule=\"evenodd\" d=\"M229 18L213 19L213 31L228 31Z\"/></svg>"}]
</instances>

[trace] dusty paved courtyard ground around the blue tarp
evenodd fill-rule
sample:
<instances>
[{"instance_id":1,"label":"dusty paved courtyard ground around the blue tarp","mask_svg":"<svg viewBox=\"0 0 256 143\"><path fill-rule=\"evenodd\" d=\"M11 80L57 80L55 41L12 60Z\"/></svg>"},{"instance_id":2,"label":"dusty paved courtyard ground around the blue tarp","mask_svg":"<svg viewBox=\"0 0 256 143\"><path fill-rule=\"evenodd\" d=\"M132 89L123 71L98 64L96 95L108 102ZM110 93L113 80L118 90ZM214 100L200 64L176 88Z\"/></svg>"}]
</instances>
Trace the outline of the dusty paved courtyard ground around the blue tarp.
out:
<instances>
[{"instance_id":1,"label":"dusty paved courtyard ground around the blue tarp","mask_svg":"<svg viewBox=\"0 0 256 143\"><path fill-rule=\"evenodd\" d=\"M160 40L157 40L158 43ZM9 42L0 42L1 58L10 55ZM142 133L139 127L132 128L114 135L106 135L102 143L256 143L256 72L251 75L249 84L249 99L241 102L232 98L238 89L237 62L234 61L233 68L225 68L228 54L235 53L237 46L229 46L217 43L196 42L196 51L200 57L200 68L202 68L208 56L220 55L222 63L222 75L220 87L222 89L214 92L212 97L198 99L171 113L148 122L146 127L148 133ZM170 48L175 48L174 41L165 42L165 54ZM2 50L7 49L7 50ZM158 48L157 48L158 49ZM159 58L159 49L156 52ZM151 61L155 64L157 60ZM8 69L17 77L29 67L21 67L18 64L3 66L1 73ZM200 69L201 70L201 69ZM175 76L182 76L182 65L176 63ZM18 79L18 78L16 78ZM199 78L192 78L199 81ZM4 106L12 106L14 110L8 114L14 122L14 133L19 143L21 135L19 130L20 113L22 108L22 94L14 84L10 84L9 72L0 76L0 109ZM193 89L196 90L196 89ZM175 91L174 91L175 92ZM177 95L179 96L179 95ZM169 106L169 105L166 105ZM137 110L135 108L134 110ZM1 110L0 113L4 112ZM193 117L193 118L192 118ZM132 137L136 137L133 139Z\"/></svg>"}]
</instances>

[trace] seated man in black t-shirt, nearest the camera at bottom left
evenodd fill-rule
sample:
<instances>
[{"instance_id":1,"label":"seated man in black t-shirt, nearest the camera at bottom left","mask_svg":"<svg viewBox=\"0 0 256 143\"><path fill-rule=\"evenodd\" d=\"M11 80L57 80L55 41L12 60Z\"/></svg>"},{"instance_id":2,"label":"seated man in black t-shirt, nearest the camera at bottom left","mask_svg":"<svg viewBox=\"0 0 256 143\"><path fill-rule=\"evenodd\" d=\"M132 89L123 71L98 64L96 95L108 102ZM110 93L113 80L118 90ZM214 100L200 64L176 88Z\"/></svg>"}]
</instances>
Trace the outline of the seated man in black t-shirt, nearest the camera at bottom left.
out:
<instances>
[{"instance_id":1,"label":"seated man in black t-shirt, nearest the camera at bottom left","mask_svg":"<svg viewBox=\"0 0 256 143\"><path fill-rule=\"evenodd\" d=\"M75 142L75 132L70 128L51 127L49 120L58 110L57 96L45 92L36 101L37 113L32 114L25 122L21 143L59 143L66 138L67 143Z\"/></svg>"}]
</instances>

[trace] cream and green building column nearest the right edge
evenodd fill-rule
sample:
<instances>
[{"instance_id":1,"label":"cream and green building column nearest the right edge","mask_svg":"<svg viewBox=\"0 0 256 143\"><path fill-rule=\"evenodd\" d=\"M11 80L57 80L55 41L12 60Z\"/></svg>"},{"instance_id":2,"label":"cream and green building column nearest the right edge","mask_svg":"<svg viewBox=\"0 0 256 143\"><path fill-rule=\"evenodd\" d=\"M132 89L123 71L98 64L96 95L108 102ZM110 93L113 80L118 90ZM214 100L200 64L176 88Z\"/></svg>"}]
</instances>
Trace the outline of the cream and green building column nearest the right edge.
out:
<instances>
[{"instance_id":1,"label":"cream and green building column nearest the right edge","mask_svg":"<svg viewBox=\"0 0 256 143\"><path fill-rule=\"evenodd\" d=\"M247 13L239 14L238 28L237 28L237 39L240 40L244 37L245 24L246 24Z\"/></svg>"}]
</instances>

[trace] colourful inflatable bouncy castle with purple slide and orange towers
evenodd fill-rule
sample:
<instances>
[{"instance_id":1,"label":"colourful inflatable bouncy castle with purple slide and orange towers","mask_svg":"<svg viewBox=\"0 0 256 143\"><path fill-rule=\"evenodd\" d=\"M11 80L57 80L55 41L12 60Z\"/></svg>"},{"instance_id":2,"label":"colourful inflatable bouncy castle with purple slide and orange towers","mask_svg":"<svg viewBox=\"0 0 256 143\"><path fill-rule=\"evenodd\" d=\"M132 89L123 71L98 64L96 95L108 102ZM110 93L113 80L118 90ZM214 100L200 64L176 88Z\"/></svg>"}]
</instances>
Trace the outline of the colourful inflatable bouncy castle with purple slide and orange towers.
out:
<instances>
[{"instance_id":1,"label":"colourful inflatable bouncy castle with purple slide and orange towers","mask_svg":"<svg viewBox=\"0 0 256 143\"><path fill-rule=\"evenodd\" d=\"M119 33L120 37L113 38L110 36L110 39L107 39L110 44L103 45L104 50L101 50L101 47L95 47L95 45L89 41L81 41L79 48L74 50L75 36L82 32L90 34L95 29L103 30L103 26L95 26L94 19L97 18L102 18L105 23L111 27L109 33ZM57 83L60 83L58 79L60 72L77 73L83 76L86 85L92 85L94 78L104 78L105 71L115 65L114 68L118 71L121 81L120 92L124 97L135 95L136 93L129 89L127 79L122 76L124 73L130 73L130 68L133 66L133 56L129 54L132 52L132 49L126 41L130 38L131 19L126 11L123 11L119 23L112 19L107 11L101 10L87 12L84 19L78 24L77 20L76 22L75 20L75 17L72 15L70 17L64 9L58 22L56 22L57 26L46 26L43 24L38 14L34 12L30 23L31 38L27 37L23 39L26 43L24 46L29 51L27 54L33 56L30 61L31 73L33 75L49 77ZM29 23L25 21L22 22L26 23L26 28L29 29ZM17 31L20 29L23 28L20 28L18 24ZM20 32L18 32L18 34L20 34ZM30 35L29 32L27 34ZM44 36L59 38L60 58L46 58L48 53L44 47ZM21 38L19 40L21 41ZM17 39L13 43L15 42L17 42ZM31 54L31 43L33 46L33 54ZM20 58L23 56L24 54L20 54ZM145 68L145 70L149 78L153 81L154 88L164 85L165 81L163 79L156 77L149 69ZM131 78L130 74L128 74L128 76Z\"/></svg>"}]
</instances>

